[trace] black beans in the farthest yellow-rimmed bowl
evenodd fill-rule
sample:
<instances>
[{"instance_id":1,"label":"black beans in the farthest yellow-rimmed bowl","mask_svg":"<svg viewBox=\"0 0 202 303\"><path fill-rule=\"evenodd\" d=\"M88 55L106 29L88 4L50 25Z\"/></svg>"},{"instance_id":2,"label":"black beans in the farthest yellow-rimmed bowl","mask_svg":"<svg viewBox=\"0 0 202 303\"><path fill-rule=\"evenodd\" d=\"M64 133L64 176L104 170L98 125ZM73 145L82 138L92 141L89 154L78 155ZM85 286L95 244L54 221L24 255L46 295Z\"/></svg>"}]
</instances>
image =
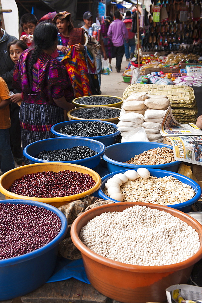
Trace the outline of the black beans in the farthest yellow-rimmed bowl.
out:
<instances>
[{"instance_id":1,"label":"black beans in the farthest yellow-rimmed bowl","mask_svg":"<svg viewBox=\"0 0 202 303\"><path fill-rule=\"evenodd\" d=\"M108 105L118 102L121 102L121 99L108 96L86 96L76 100L76 103L86 105Z\"/></svg>"}]
</instances>

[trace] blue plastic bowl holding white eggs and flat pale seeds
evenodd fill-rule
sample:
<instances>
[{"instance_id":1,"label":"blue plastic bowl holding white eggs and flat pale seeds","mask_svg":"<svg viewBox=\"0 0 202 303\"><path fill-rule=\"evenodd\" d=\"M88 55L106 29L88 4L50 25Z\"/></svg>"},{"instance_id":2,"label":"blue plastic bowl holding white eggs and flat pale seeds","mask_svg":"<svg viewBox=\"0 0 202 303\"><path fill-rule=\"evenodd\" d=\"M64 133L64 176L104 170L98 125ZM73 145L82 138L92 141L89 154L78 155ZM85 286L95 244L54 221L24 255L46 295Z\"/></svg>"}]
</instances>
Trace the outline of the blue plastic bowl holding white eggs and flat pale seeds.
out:
<instances>
[{"instance_id":1,"label":"blue plastic bowl holding white eggs and flat pale seeds","mask_svg":"<svg viewBox=\"0 0 202 303\"><path fill-rule=\"evenodd\" d=\"M119 173L123 174L127 170L128 169L115 171L115 172L113 172L111 174L108 174L108 175L104 176L101 179L101 181L102 181L101 187L98 189L98 195L99 195L99 197L103 198L104 200L111 200L111 201L114 201L114 202L120 202L118 200L111 199L107 195L105 195L104 192L103 192L103 189L105 187L105 183L107 182L107 180L109 178L112 178L114 175L119 174ZM137 168L135 168L134 170L137 171ZM174 205L166 205L166 206L169 206L169 207L172 207L172 208L175 208L175 209L178 209L180 211L183 211L183 212L187 213L187 212L190 211L191 205L194 204L196 201L198 201L198 199L200 198L200 196L201 196L201 188L198 185L198 183L195 182L194 180L192 180L190 178L187 178L187 177L185 177L183 175L177 174L175 172L170 172L170 171L166 171L166 170L151 169L151 168L149 168L149 171L150 171L151 176L157 177L157 178L163 178L165 176L173 176L174 178L180 180L181 182L183 182L185 184L188 184L188 185L191 185L191 187L194 188L194 190L196 192L196 195L192 199L190 199L188 201L185 201L185 202L182 202L182 203L178 203L178 204L174 204ZM134 202L136 202L136 201L134 201Z\"/></svg>"}]
</instances>

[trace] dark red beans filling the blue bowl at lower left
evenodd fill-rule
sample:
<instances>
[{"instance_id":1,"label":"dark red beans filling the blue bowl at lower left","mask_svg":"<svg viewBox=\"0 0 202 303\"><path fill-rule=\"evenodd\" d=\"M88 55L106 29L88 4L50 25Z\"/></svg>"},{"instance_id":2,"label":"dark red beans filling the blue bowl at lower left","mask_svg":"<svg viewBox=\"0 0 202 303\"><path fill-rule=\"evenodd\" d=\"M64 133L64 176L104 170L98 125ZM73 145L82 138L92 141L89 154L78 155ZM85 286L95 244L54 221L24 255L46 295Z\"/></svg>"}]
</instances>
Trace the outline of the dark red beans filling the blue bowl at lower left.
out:
<instances>
[{"instance_id":1,"label":"dark red beans filling the blue bowl at lower left","mask_svg":"<svg viewBox=\"0 0 202 303\"><path fill-rule=\"evenodd\" d=\"M60 218L44 207L0 203L0 260L41 248L60 230Z\"/></svg>"}]
</instances>

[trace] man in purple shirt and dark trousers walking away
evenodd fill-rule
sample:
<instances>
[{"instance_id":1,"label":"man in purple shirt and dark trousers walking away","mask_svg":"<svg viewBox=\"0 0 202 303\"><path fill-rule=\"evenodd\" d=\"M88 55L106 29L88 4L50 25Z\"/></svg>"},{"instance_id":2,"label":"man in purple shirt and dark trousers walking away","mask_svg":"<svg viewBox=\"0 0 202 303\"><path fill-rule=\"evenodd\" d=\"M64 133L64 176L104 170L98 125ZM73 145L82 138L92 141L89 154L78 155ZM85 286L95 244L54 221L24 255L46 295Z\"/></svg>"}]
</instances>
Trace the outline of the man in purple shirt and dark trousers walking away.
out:
<instances>
[{"instance_id":1,"label":"man in purple shirt and dark trousers walking away","mask_svg":"<svg viewBox=\"0 0 202 303\"><path fill-rule=\"evenodd\" d=\"M121 62L124 55L124 38L128 41L128 32L125 24L119 19L120 12L114 13L115 20L109 25L107 32L108 37L113 43L113 56L116 57L116 71L121 70Z\"/></svg>"}]
</instances>

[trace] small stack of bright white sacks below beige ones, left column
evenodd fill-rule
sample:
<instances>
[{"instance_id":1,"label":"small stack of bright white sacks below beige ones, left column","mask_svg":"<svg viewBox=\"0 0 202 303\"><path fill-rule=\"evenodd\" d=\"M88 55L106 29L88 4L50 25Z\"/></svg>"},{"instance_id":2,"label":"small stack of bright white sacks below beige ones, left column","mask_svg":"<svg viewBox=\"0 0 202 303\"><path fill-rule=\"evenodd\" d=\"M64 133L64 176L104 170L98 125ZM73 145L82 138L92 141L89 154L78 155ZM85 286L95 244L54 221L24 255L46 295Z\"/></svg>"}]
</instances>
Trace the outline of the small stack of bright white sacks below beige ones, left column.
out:
<instances>
[{"instance_id":1,"label":"small stack of bright white sacks below beige ones, left column","mask_svg":"<svg viewBox=\"0 0 202 303\"><path fill-rule=\"evenodd\" d=\"M119 117L118 130L121 132L121 136L126 137L129 132L133 131L137 127L141 127L144 122L144 116L138 113L130 112Z\"/></svg>"}]
</instances>

